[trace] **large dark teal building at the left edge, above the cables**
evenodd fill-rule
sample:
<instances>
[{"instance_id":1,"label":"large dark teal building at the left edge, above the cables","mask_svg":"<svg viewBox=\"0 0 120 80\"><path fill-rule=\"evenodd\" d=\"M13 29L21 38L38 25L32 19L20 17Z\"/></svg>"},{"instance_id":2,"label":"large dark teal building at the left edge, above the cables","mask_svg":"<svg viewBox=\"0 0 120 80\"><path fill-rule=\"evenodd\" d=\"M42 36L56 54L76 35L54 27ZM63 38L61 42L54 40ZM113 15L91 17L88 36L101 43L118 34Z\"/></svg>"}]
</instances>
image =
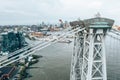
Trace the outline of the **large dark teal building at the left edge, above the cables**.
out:
<instances>
[{"instance_id":1,"label":"large dark teal building at the left edge, above the cables","mask_svg":"<svg viewBox=\"0 0 120 80\"><path fill-rule=\"evenodd\" d=\"M22 32L5 32L0 35L0 52L9 53L27 45Z\"/></svg>"}]
</instances>

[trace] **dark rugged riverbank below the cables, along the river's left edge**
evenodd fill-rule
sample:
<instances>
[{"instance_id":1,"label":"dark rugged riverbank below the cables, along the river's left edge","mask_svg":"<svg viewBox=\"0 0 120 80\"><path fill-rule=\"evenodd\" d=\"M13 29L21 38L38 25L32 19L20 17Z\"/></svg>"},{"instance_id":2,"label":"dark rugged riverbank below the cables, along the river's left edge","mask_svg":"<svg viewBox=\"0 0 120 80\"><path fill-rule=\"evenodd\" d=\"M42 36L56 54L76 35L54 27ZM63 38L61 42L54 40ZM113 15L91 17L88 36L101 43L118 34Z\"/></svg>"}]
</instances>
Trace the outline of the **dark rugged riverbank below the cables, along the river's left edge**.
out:
<instances>
[{"instance_id":1,"label":"dark rugged riverbank below the cables, along the river's left edge","mask_svg":"<svg viewBox=\"0 0 120 80\"><path fill-rule=\"evenodd\" d=\"M42 56L40 55L31 55L28 56L25 59L21 59L19 61L18 64L18 72L16 73L16 75L13 77L13 80L24 80L25 78L30 77L29 73L27 72L27 70L29 69L29 67L33 64L36 64L37 62L39 62L39 58L42 58Z\"/></svg>"}]
</instances>

